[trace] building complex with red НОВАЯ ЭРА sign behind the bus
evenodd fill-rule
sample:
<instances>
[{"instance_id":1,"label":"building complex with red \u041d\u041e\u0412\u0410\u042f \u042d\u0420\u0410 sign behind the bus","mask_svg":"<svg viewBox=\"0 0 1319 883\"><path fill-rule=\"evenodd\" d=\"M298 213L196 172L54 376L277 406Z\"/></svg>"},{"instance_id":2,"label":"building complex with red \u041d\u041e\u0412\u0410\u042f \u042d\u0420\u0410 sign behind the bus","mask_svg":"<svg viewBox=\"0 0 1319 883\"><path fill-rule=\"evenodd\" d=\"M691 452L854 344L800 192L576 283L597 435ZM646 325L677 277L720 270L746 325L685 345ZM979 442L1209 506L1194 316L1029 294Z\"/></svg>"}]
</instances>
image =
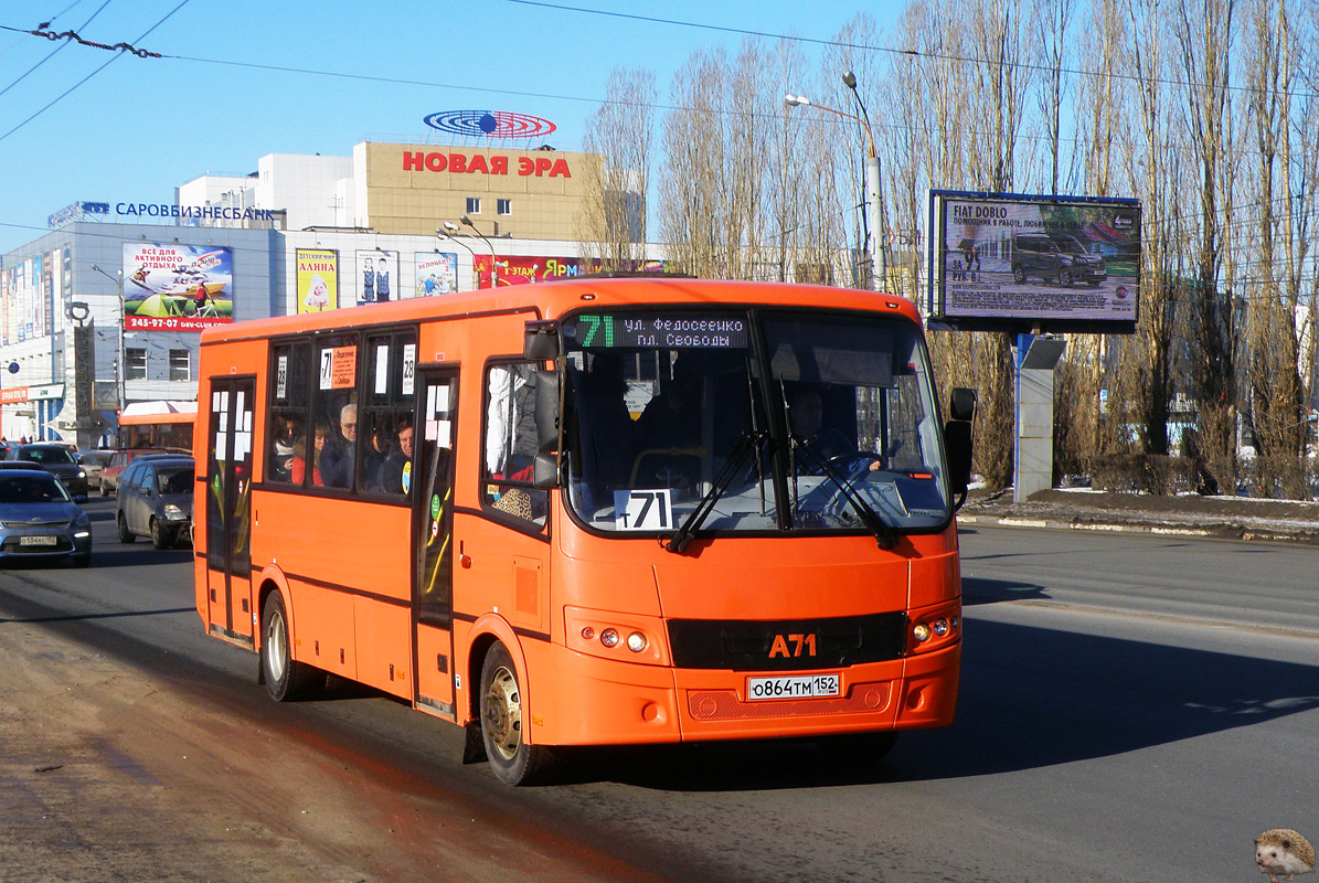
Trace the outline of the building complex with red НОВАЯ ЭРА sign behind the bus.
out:
<instances>
[{"instance_id":1,"label":"building complex with red \u041d\u041e\u0412\u0410\u042f \u042d\u0420\u0410 sign behind the bus","mask_svg":"<svg viewBox=\"0 0 1319 883\"><path fill-rule=\"evenodd\" d=\"M113 445L124 405L195 400L208 325L584 272L599 164L363 143L206 174L171 205L75 203L0 256L0 434Z\"/></svg>"}]
</instances>

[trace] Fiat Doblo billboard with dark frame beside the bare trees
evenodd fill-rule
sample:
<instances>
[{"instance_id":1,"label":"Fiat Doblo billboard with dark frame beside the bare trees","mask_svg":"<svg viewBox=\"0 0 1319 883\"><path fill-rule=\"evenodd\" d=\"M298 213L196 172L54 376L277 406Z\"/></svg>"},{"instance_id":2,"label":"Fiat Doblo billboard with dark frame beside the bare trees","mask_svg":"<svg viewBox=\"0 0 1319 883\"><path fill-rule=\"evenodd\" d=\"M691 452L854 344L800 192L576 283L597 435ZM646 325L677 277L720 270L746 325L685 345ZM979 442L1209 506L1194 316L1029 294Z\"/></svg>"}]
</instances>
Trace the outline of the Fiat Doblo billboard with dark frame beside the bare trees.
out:
<instances>
[{"instance_id":1,"label":"Fiat Doblo billboard with dark frame beside the bare trees","mask_svg":"<svg viewBox=\"0 0 1319 883\"><path fill-rule=\"evenodd\" d=\"M1136 199L930 193L930 317L963 330L1136 330Z\"/></svg>"}]
</instances>

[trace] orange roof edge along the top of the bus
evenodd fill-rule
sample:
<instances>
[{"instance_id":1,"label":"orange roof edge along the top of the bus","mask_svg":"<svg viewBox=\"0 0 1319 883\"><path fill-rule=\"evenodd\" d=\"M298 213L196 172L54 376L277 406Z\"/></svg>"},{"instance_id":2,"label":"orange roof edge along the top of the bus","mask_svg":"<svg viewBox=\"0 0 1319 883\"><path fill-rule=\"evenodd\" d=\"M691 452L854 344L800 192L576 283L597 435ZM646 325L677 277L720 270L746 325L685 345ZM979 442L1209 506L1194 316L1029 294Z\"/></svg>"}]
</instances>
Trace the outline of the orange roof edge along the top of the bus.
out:
<instances>
[{"instance_id":1,"label":"orange roof edge along the top of the bus","mask_svg":"<svg viewBox=\"0 0 1319 883\"><path fill-rule=\"evenodd\" d=\"M509 285L458 294L405 298L389 304L351 306L323 313L301 313L265 319L248 319L218 325L202 331L202 344L247 341L274 334L299 331L334 331L361 325L418 322L463 314L529 311L553 318L591 304L600 306L632 305L768 305L814 306L822 309L881 310L904 315L919 325L911 301L878 292L863 292L826 285L793 285L785 282L744 282L731 280L633 277L633 278L562 278L551 282Z\"/></svg>"}]
</instances>

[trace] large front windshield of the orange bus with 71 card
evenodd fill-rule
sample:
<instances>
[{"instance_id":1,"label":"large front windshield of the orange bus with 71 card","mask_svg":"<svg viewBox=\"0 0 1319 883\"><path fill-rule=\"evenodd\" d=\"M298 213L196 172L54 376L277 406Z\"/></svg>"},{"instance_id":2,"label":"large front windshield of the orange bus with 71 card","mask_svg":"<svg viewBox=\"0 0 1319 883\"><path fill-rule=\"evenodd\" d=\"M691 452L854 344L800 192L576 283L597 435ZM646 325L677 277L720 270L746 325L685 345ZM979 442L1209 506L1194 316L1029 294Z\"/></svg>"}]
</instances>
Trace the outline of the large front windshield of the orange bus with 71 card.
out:
<instances>
[{"instance_id":1,"label":"large front windshield of the orange bus with 71 card","mask_svg":"<svg viewBox=\"0 0 1319 883\"><path fill-rule=\"evenodd\" d=\"M919 330L801 310L563 322L567 499L601 532L876 533L951 516Z\"/></svg>"}]
</instances>

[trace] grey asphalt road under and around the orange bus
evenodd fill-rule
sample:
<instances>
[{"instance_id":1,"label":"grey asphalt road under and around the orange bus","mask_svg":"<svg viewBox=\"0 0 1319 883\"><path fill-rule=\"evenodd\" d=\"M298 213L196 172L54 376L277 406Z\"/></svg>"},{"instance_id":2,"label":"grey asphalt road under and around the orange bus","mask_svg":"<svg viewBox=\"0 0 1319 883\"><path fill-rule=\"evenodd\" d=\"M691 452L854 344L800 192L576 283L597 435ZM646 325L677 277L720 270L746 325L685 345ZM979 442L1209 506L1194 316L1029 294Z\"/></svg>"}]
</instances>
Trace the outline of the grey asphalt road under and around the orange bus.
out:
<instances>
[{"instance_id":1,"label":"grey asphalt road under and around the orange bus","mask_svg":"<svg viewBox=\"0 0 1319 883\"><path fill-rule=\"evenodd\" d=\"M365 799L339 801L356 846L332 853L334 879L418 879L427 855L442 868L460 850L467 876L433 879L1248 880L1260 832L1319 839L1312 548L975 525L955 726L905 734L877 768L809 744L648 748L590 752L559 784L509 789L460 766L456 729L390 700L269 702L256 657L200 634L190 553L120 546L111 504L88 509L91 570L0 572L0 639L49 634L124 677L161 678L137 714L169 694L235 743L261 733L323 759L301 768L303 791L265 793L268 756L224 758L214 775L276 809L290 793L340 793L335 776L379 785L369 813ZM414 835L400 842L404 812ZM262 816L248 846L331 838L295 820ZM0 879L88 879L58 872L59 849L50 841L42 872L11 862ZM286 871L262 879L314 878Z\"/></svg>"}]
</instances>

